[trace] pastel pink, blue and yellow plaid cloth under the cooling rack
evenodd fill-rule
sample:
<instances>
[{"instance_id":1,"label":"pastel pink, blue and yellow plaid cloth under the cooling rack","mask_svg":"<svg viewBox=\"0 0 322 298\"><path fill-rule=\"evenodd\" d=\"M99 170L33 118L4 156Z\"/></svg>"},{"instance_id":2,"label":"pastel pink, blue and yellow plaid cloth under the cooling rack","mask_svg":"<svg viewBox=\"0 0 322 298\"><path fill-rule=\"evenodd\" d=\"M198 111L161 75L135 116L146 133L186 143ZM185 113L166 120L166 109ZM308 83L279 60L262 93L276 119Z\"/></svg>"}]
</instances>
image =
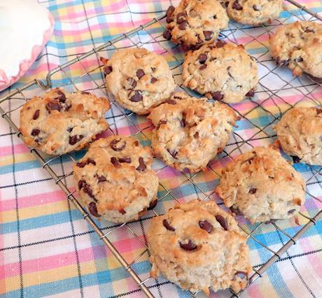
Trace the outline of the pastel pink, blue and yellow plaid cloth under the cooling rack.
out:
<instances>
[{"instance_id":1,"label":"pastel pink, blue and yellow plaid cloth under the cooling rack","mask_svg":"<svg viewBox=\"0 0 322 298\"><path fill-rule=\"evenodd\" d=\"M0 97L34 78L45 83L47 73L57 66L164 14L170 4L179 3L168 0L39 2L55 17L55 31L27 76L10 90L0 93ZM322 11L321 1L302 0L301 3L314 13ZM176 199L214 199L223 207L222 201L214 194L222 167L253 146L272 143L276 139L272 129L274 124L292 106L321 105L322 87L304 76L293 78L288 69L276 67L267 51L269 34L274 33L281 21L314 20L314 17L290 3L285 5L288 10L281 13L279 21L257 28L239 27L232 22L230 28L222 32L221 38L228 42L243 43L246 50L257 59L260 71L258 92L253 99L232 105L241 115L241 120L237 122L238 127L234 129L225 151L211 162L208 171L195 175L179 173L155 160L153 168L158 171L160 178L160 203L155 208L156 213L164 213L174 206ZM53 86L63 85L71 91L78 88L106 96L104 76L102 69L98 68L98 65L102 65L99 56L111 57L116 48L129 46L144 46L164 55L180 84L183 51L162 38L162 25L159 22L109 45L97 55L94 53L81 62L52 73L51 83ZM4 111L13 111L21 105L24 96L29 99L35 94L41 94L41 88L36 83L10 101L0 103L0 107ZM106 135L132 134L142 143L148 144L151 122L125 111L115 102L112 106L113 109L106 114L111 127ZM18 123L18 110L10 113L10 116ZM71 157L78 159L83 154L76 152ZM285 157L290 160L290 157ZM62 177L69 190L74 190L72 176L69 176L70 157L57 157L50 165ZM250 225L238 217L241 227L248 233L252 232L248 237L248 246L251 250L251 264L256 270L309 221L307 218L313 218L322 209L321 168L305 164L295 164L294 167L307 181L307 199L297 222L283 220L276 222L276 225ZM144 245L153 216L153 211L148 211L141 220L122 226L97 222L104 232L109 232L108 239L142 281L148 278L151 269ZM3 297L144 297L137 283L2 118L0 232L0 295ZM322 297L321 235L320 220L295 246L281 255L242 297ZM162 276L157 280L148 279L145 284L155 297L191 295ZM228 290L211 292L211 297L230 295Z\"/></svg>"}]
</instances>

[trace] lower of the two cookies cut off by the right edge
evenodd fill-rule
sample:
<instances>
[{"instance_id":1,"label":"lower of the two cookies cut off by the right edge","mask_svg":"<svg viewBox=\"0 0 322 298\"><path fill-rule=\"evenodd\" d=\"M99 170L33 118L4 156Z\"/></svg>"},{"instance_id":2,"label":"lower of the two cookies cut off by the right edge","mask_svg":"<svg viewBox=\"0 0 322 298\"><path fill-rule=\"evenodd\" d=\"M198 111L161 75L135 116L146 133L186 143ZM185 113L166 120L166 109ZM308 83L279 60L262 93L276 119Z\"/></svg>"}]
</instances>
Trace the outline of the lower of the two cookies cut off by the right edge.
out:
<instances>
[{"instance_id":1,"label":"lower of the two cookies cut off by the right edge","mask_svg":"<svg viewBox=\"0 0 322 298\"><path fill-rule=\"evenodd\" d=\"M274 129L281 148L294 162L322 166L321 108L292 108Z\"/></svg>"}]
</instances>

